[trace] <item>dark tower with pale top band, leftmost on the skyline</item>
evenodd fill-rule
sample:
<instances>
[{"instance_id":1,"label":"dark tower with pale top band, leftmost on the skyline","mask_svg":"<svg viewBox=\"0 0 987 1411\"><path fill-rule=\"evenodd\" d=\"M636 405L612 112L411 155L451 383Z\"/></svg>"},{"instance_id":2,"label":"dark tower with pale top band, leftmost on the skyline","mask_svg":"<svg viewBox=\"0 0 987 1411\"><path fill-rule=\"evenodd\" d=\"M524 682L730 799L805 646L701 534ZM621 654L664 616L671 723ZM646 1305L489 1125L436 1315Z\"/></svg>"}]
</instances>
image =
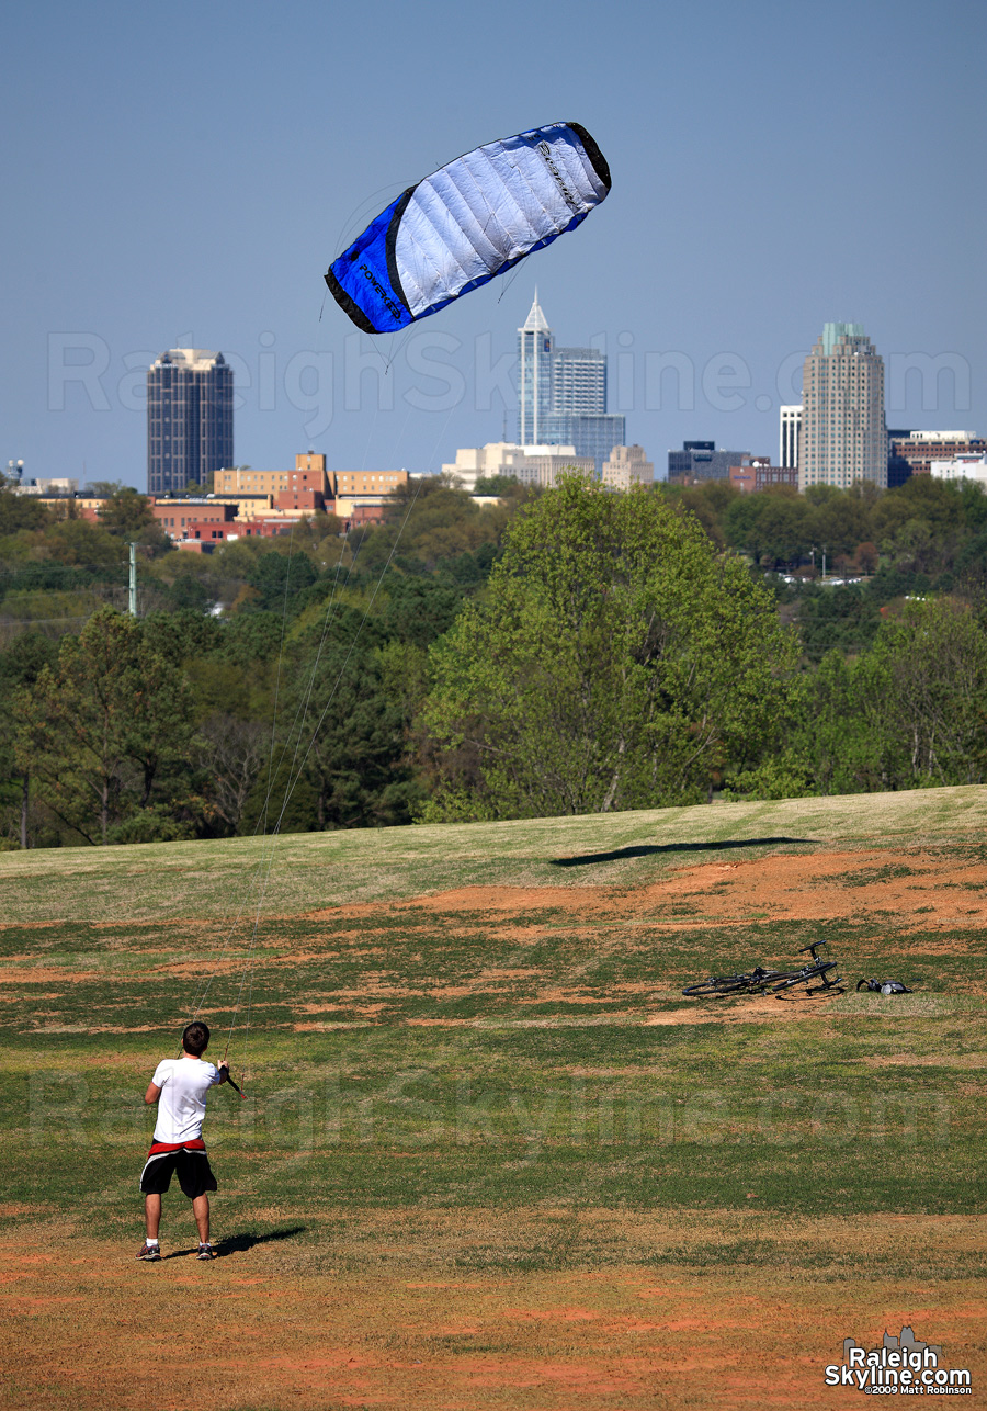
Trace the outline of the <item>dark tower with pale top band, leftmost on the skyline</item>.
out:
<instances>
[{"instance_id":1,"label":"dark tower with pale top band, leftmost on the skyline","mask_svg":"<svg viewBox=\"0 0 987 1411\"><path fill-rule=\"evenodd\" d=\"M148 494L231 464L233 368L221 353L169 349L148 368Z\"/></svg>"}]
</instances>

